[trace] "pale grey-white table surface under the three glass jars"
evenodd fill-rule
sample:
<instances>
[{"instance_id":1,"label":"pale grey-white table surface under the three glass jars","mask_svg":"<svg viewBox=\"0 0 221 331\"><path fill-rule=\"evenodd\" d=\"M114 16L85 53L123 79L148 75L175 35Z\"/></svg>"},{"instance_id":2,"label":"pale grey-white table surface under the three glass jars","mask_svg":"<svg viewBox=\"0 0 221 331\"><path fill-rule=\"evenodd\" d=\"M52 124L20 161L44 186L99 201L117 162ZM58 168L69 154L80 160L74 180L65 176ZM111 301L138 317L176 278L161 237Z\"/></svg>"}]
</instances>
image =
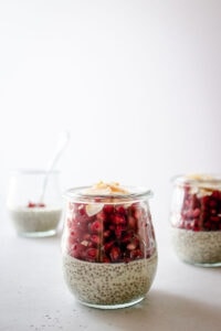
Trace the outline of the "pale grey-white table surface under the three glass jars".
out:
<instances>
[{"instance_id":1,"label":"pale grey-white table surface under the three glass jars","mask_svg":"<svg viewBox=\"0 0 221 331\"><path fill-rule=\"evenodd\" d=\"M7 222L6 222L7 221ZM145 300L99 310L78 303L64 284L61 231L54 237L15 235L0 220L0 330L221 330L221 268L180 261L167 233L157 234L159 261Z\"/></svg>"}]
</instances>

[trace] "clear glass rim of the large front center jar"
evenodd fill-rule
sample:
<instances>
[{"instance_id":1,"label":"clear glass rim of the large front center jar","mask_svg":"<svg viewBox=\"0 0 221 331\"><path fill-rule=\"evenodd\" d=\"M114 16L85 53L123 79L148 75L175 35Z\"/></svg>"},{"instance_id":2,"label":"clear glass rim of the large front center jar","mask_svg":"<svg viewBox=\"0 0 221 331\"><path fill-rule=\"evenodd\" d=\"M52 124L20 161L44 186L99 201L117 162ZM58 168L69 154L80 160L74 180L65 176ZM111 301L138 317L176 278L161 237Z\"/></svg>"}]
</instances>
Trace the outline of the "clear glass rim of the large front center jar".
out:
<instances>
[{"instance_id":1,"label":"clear glass rim of the large front center jar","mask_svg":"<svg viewBox=\"0 0 221 331\"><path fill-rule=\"evenodd\" d=\"M64 192L64 197L66 199L114 199L114 200L133 200L133 199L141 199L141 197L152 197L154 193L151 190L148 190L144 186L124 186L128 190L129 193L109 193L109 194L97 194L97 193L85 193L84 191L90 189L91 186L76 186L71 188Z\"/></svg>"}]
</instances>

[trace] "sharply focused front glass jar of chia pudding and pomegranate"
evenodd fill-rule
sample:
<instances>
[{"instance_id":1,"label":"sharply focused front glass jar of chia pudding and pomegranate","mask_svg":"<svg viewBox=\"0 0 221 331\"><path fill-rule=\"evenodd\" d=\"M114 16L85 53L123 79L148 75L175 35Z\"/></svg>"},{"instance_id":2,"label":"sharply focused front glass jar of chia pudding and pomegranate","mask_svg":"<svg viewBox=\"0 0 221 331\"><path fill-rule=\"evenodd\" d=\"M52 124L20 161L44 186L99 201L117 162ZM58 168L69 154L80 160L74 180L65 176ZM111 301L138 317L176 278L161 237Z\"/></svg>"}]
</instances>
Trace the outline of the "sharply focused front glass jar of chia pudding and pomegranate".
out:
<instances>
[{"instance_id":1,"label":"sharply focused front glass jar of chia pudding and pomegranate","mask_svg":"<svg viewBox=\"0 0 221 331\"><path fill-rule=\"evenodd\" d=\"M146 297L157 269L151 195L103 182L65 193L63 275L80 302L115 309Z\"/></svg>"}]
</instances>

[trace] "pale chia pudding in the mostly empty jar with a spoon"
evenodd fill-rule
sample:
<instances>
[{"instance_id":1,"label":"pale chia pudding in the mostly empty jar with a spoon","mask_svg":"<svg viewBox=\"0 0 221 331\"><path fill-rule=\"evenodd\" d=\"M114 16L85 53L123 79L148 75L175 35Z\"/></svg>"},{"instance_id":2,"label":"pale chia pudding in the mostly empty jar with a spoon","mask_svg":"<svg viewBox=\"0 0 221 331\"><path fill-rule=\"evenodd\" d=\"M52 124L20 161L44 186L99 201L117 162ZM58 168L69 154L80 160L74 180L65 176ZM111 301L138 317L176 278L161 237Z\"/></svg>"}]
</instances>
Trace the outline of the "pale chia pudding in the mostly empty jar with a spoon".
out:
<instances>
[{"instance_id":1,"label":"pale chia pudding in the mostly empty jar with a spoon","mask_svg":"<svg viewBox=\"0 0 221 331\"><path fill-rule=\"evenodd\" d=\"M28 237L56 234L62 209L57 206L18 206L8 209L19 235Z\"/></svg>"}]
</instances>

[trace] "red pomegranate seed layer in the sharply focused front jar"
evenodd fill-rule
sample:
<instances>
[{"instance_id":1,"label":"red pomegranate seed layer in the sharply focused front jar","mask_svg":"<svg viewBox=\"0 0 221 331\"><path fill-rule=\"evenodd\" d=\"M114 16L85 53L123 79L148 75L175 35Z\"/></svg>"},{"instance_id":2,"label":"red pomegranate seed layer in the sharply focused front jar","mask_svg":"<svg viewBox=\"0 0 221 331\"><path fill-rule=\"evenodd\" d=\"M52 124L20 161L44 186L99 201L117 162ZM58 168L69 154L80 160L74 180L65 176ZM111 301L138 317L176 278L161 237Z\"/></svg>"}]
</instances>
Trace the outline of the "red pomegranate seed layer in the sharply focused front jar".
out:
<instances>
[{"instance_id":1,"label":"red pomegranate seed layer in the sharply focused front jar","mask_svg":"<svg viewBox=\"0 0 221 331\"><path fill-rule=\"evenodd\" d=\"M145 225L150 217L139 203L104 204L91 216L86 210L85 204L70 204L72 218L67 216L66 224L71 256L92 263L128 263L145 257L140 247L144 247L143 241L148 246L149 227ZM154 238L154 233L151 235ZM149 247L145 249L149 252Z\"/></svg>"}]
</instances>

